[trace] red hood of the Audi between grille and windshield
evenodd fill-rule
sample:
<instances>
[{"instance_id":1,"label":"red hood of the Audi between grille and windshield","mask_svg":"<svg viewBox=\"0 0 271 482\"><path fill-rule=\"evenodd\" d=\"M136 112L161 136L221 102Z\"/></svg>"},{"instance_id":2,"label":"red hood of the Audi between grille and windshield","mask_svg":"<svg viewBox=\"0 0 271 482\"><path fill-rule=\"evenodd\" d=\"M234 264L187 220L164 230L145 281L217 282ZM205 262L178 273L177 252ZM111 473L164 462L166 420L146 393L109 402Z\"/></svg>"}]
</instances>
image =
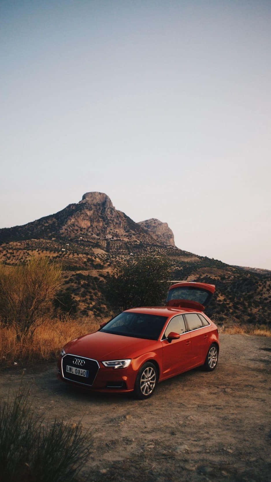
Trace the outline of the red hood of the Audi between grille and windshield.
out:
<instances>
[{"instance_id":1,"label":"red hood of the Audi between grille and windshield","mask_svg":"<svg viewBox=\"0 0 271 482\"><path fill-rule=\"evenodd\" d=\"M150 347L154 343L156 343L155 340L98 331L68 342L64 349L66 353L72 355L103 361L113 360L114 358L131 358L135 351Z\"/></svg>"}]
</instances>

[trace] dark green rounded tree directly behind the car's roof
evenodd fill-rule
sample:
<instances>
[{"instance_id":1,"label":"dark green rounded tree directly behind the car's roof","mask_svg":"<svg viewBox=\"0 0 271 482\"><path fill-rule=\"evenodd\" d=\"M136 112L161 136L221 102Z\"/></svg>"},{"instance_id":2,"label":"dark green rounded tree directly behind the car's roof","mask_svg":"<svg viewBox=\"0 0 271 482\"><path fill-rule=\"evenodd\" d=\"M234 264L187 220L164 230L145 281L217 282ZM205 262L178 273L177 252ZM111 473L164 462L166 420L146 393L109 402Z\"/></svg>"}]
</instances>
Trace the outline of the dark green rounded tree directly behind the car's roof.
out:
<instances>
[{"instance_id":1,"label":"dark green rounded tree directly behind the car's roof","mask_svg":"<svg viewBox=\"0 0 271 482\"><path fill-rule=\"evenodd\" d=\"M154 256L137 257L108 276L105 297L113 310L164 304L170 263Z\"/></svg>"}]
</instances>

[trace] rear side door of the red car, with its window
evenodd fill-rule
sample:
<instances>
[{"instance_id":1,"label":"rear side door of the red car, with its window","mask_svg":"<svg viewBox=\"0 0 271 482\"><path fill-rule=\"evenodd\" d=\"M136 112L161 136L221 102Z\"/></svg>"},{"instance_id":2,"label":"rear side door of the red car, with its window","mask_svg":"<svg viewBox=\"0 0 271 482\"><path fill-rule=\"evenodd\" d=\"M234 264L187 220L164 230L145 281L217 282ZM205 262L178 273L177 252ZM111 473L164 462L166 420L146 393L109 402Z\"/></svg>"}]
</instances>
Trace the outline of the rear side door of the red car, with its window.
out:
<instances>
[{"instance_id":1,"label":"rear side door of the red car, with its window","mask_svg":"<svg viewBox=\"0 0 271 482\"><path fill-rule=\"evenodd\" d=\"M185 318L191 336L192 362L193 364L203 363L207 352L209 325L203 326L203 322L197 313L186 313Z\"/></svg>"}]
</instances>

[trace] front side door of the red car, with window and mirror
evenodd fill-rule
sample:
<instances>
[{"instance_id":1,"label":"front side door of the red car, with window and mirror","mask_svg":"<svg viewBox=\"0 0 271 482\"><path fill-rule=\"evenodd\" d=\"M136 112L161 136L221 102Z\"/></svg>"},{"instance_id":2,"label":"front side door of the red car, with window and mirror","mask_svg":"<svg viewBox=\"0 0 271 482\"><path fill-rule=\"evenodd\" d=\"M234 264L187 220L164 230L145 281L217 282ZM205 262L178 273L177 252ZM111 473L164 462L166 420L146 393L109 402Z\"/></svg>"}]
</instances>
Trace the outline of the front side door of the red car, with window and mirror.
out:
<instances>
[{"instance_id":1,"label":"front side door of the red car, with window and mirror","mask_svg":"<svg viewBox=\"0 0 271 482\"><path fill-rule=\"evenodd\" d=\"M167 335L170 332L178 333L180 337L169 341ZM189 370L191 365L190 338L183 315L174 316L169 321L161 340L163 345L163 378Z\"/></svg>"}]
</instances>

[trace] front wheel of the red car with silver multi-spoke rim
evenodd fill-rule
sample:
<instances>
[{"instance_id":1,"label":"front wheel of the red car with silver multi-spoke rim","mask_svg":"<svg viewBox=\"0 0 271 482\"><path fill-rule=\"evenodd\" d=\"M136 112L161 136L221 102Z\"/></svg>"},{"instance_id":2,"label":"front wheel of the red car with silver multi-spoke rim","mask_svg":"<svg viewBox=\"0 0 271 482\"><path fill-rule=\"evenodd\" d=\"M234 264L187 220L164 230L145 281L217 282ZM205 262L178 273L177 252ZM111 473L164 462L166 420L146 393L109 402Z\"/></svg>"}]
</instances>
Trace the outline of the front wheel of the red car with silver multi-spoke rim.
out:
<instances>
[{"instance_id":1,"label":"front wheel of the red car with silver multi-spoke rim","mask_svg":"<svg viewBox=\"0 0 271 482\"><path fill-rule=\"evenodd\" d=\"M134 396L139 400L149 398L157 385L158 374L156 366L151 362L146 362L139 369L136 375Z\"/></svg>"}]
</instances>

